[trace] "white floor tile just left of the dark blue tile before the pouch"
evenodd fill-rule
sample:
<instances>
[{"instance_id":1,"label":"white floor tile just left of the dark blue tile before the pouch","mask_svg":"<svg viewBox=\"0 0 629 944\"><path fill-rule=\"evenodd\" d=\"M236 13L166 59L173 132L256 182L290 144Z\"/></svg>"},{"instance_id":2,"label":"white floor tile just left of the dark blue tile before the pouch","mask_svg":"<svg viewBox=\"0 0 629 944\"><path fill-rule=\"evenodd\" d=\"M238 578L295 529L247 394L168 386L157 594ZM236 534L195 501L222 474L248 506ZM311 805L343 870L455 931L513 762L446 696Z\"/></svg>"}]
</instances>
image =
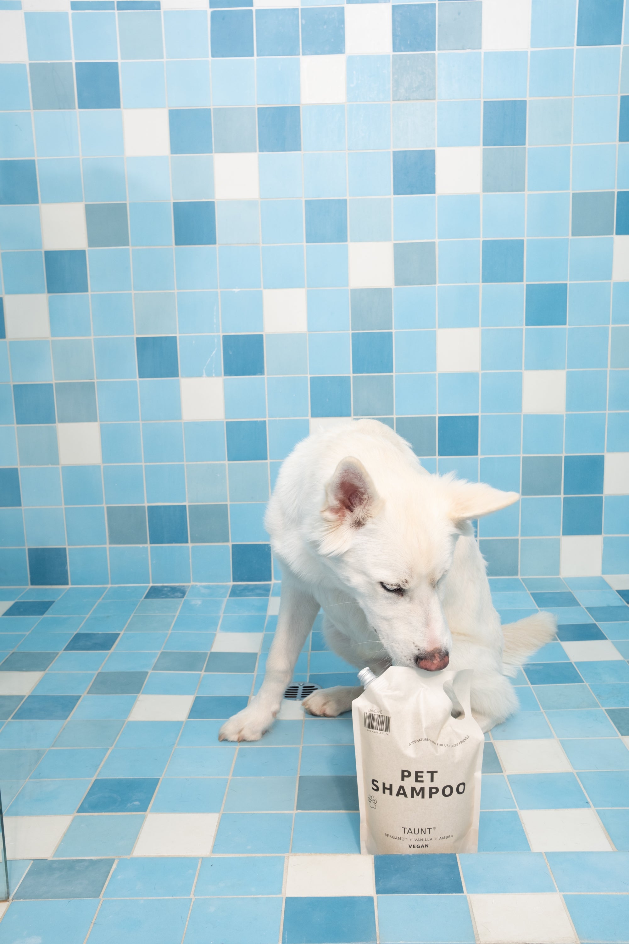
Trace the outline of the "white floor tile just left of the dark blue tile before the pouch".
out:
<instances>
[{"instance_id":1,"label":"white floor tile just left of the dark blue tile before the pouch","mask_svg":"<svg viewBox=\"0 0 629 944\"><path fill-rule=\"evenodd\" d=\"M374 893L372 855L290 855L286 894L296 898Z\"/></svg>"}]
</instances>

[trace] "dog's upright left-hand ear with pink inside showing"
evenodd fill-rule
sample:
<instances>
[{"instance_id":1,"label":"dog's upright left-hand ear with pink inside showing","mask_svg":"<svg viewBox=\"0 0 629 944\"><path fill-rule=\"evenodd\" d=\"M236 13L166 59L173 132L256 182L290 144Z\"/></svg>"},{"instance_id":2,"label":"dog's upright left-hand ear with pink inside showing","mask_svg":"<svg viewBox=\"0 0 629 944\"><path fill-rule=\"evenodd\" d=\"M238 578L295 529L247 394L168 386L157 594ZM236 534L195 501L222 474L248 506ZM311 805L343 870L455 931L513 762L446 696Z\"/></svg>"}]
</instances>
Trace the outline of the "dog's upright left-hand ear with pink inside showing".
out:
<instances>
[{"instance_id":1,"label":"dog's upright left-hand ear with pink inside showing","mask_svg":"<svg viewBox=\"0 0 629 944\"><path fill-rule=\"evenodd\" d=\"M382 506L372 478L353 456L341 459L334 475L325 486L325 502L321 510L326 524L322 551L340 554L351 542L353 532L377 514Z\"/></svg>"}]
</instances>

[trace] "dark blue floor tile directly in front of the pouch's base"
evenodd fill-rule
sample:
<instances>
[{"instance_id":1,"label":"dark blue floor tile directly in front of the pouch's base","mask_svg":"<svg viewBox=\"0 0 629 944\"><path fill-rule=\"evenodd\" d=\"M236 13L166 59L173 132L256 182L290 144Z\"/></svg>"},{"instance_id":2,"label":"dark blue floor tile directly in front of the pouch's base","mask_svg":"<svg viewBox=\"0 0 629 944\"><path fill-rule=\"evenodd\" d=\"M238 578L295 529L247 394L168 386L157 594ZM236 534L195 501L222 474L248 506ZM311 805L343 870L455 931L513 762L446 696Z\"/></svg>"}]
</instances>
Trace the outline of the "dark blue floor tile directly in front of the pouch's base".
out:
<instances>
[{"instance_id":1,"label":"dark blue floor tile directly in front of the pouch's base","mask_svg":"<svg viewBox=\"0 0 629 944\"><path fill-rule=\"evenodd\" d=\"M418 832L420 827L417 827ZM377 895L460 895L461 875L454 854L375 855Z\"/></svg>"}]
</instances>

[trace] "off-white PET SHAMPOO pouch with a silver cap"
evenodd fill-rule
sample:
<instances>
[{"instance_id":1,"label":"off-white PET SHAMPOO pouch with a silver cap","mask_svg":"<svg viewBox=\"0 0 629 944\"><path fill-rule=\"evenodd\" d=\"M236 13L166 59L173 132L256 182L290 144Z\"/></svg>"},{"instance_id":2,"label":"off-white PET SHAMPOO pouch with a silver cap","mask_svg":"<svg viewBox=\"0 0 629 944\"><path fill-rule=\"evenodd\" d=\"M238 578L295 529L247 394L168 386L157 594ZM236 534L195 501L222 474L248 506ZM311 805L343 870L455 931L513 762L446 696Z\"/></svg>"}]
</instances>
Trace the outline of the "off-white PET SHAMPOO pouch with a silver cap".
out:
<instances>
[{"instance_id":1,"label":"off-white PET SHAMPOO pouch with a silver cap","mask_svg":"<svg viewBox=\"0 0 629 944\"><path fill-rule=\"evenodd\" d=\"M485 737L472 671L392 666L352 704L360 851L475 852Z\"/></svg>"}]
</instances>

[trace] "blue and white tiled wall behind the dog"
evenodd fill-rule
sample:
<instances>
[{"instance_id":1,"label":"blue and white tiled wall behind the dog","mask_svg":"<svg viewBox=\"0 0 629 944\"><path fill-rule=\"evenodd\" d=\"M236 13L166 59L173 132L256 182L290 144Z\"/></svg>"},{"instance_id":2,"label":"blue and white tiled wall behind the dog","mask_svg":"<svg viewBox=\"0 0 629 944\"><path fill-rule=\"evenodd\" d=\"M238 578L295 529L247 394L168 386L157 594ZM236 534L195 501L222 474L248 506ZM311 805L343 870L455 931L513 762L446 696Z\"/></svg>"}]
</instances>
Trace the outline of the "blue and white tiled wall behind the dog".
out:
<instances>
[{"instance_id":1,"label":"blue and white tiled wall behind the dog","mask_svg":"<svg viewBox=\"0 0 629 944\"><path fill-rule=\"evenodd\" d=\"M629 573L629 27L521 6L0 3L0 585L278 579L352 416Z\"/></svg>"}]
</instances>

